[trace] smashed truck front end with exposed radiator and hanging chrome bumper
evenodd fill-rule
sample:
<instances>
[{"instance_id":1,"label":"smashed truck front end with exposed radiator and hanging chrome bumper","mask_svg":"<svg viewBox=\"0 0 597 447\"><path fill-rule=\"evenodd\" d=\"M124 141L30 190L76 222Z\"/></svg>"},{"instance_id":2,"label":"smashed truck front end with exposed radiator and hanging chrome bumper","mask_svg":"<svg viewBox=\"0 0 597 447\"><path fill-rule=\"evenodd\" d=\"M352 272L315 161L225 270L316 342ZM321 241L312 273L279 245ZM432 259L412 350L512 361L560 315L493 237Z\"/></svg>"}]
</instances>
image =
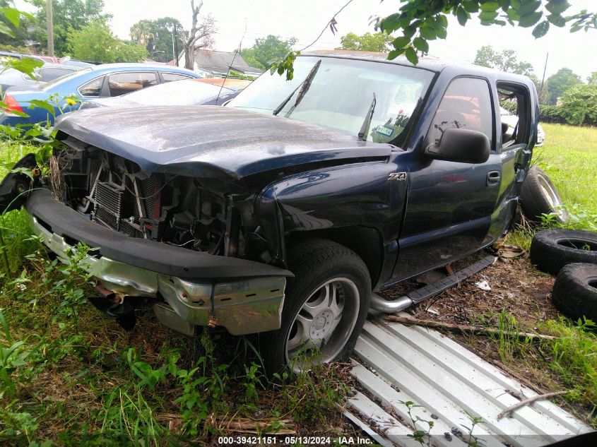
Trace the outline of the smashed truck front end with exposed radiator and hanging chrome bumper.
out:
<instances>
[{"instance_id":1,"label":"smashed truck front end with exposed radiator and hanging chrome bumper","mask_svg":"<svg viewBox=\"0 0 597 447\"><path fill-rule=\"evenodd\" d=\"M35 178L25 209L33 232L63 261L78 242L96 249L84 261L112 314L118 315L115 307L134 309L126 304L141 297L162 323L182 333L196 326L223 326L232 335L280 327L292 273L264 262L268 248L252 193L142 172L76 138L63 142L49 174ZM10 174L2 185L17 188L22 203L25 180ZM19 202L11 197L6 193L4 201Z\"/></svg>"}]
</instances>

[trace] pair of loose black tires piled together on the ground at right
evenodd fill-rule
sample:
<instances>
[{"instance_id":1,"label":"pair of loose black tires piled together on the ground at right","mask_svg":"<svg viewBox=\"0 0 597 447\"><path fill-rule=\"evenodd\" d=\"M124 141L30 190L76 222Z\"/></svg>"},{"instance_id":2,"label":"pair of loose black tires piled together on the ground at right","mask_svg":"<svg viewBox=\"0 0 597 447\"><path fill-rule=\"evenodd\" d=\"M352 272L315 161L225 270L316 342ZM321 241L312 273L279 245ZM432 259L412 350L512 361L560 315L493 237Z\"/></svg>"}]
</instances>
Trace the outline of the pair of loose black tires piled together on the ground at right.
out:
<instances>
[{"instance_id":1,"label":"pair of loose black tires piled together on the ground at right","mask_svg":"<svg viewBox=\"0 0 597 447\"><path fill-rule=\"evenodd\" d=\"M597 321L597 233L545 230L531 242L531 263L557 275L552 302L569 316Z\"/></svg>"}]
</instances>

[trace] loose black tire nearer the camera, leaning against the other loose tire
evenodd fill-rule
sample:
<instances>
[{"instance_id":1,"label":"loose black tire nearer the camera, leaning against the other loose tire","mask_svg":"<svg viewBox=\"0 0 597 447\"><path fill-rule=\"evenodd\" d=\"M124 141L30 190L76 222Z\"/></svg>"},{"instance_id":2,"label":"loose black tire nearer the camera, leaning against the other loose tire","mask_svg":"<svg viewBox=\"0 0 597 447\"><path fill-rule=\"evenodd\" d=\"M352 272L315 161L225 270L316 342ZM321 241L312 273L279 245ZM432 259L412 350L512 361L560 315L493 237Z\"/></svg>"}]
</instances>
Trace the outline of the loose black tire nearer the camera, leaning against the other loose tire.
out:
<instances>
[{"instance_id":1,"label":"loose black tire nearer the camera, leaning against the other loose tire","mask_svg":"<svg viewBox=\"0 0 597 447\"><path fill-rule=\"evenodd\" d=\"M553 285L552 302L574 320L597 321L597 265L574 263L562 268Z\"/></svg>"}]
</instances>

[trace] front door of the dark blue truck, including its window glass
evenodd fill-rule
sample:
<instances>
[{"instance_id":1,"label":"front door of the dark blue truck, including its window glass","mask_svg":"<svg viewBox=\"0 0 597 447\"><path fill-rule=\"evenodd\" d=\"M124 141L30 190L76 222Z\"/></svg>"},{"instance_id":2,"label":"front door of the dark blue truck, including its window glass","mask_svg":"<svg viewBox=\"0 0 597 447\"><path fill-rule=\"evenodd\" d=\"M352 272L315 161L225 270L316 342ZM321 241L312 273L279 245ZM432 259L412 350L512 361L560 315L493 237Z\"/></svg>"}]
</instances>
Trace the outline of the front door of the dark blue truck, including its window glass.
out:
<instances>
[{"instance_id":1,"label":"front door of the dark blue truck, including its window glass","mask_svg":"<svg viewBox=\"0 0 597 447\"><path fill-rule=\"evenodd\" d=\"M490 85L461 77L449 84L408 173L408 202L398 239L394 280L444 266L491 241L490 226L502 181L496 148ZM490 140L489 159L480 164L431 160L423 155L449 128L472 129Z\"/></svg>"}]
</instances>

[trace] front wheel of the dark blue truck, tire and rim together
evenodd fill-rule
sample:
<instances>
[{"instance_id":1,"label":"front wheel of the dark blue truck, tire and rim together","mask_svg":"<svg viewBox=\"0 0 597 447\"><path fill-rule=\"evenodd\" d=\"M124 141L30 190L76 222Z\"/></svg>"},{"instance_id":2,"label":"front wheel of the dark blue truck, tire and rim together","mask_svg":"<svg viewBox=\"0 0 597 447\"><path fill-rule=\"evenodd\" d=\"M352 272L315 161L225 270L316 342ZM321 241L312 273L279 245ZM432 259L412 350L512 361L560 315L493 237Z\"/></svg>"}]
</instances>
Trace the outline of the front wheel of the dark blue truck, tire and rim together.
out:
<instances>
[{"instance_id":1,"label":"front wheel of the dark blue truck, tire and rim together","mask_svg":"<svg viewBox=\"0 0 597 447\"><path fill-rule=\"evenodd\" d=\"M369 310L367 266L350 249L324 239L295 246L279 330L261 334L261 354L271 374L295 373L348 358Z\"/></svg>"}]
</instances>

